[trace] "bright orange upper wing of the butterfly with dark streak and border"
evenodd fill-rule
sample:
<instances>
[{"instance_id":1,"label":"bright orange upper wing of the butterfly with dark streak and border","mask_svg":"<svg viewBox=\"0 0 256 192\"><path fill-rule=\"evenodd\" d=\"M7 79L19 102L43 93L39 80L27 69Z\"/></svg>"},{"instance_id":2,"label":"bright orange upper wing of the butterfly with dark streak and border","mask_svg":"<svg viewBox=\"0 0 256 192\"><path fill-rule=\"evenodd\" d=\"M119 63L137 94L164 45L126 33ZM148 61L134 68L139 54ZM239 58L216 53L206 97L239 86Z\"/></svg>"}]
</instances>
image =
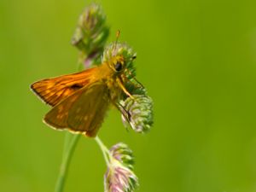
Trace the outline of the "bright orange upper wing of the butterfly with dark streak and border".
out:
<instances>
[{"instance_id":1,"label":"bright orange upper wing of the butterfly with dark streak and border","mask_svg":"<svg viewBox=\"0 0 256 192\"><path fill-rule=\"evenodd\" d=\"M71 96L85 85L91 84L95 80L96 70L97 67L94 67L79 73L43 79L33 83L31 88L44 102L55 106L67 96Z\"/></svg>"}]
</instances>

